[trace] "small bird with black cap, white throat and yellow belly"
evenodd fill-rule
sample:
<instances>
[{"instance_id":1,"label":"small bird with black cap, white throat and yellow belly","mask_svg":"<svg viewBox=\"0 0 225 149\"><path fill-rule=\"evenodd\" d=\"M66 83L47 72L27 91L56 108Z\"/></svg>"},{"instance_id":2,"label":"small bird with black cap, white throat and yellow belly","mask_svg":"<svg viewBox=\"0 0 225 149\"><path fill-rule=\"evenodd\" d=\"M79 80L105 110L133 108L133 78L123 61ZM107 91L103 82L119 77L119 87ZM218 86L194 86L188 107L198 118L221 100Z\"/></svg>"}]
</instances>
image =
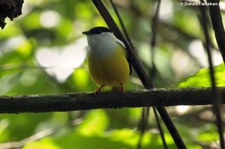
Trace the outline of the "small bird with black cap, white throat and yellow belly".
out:
<instances>
[{"instance_id":1,"label":"small bird with black cap, white throat and yellow belly","mask_svg":"<svg viewBox=\"0 0 225 149\"><path fill-rule=\"evenodd\" d=\"M104 86L123 92L131 72L124 43L106 27L94 27L83 34L87 35L90 47L87 57L89 72L92 79L100 85L96 93Z\"/></svg>"}]
</instances>

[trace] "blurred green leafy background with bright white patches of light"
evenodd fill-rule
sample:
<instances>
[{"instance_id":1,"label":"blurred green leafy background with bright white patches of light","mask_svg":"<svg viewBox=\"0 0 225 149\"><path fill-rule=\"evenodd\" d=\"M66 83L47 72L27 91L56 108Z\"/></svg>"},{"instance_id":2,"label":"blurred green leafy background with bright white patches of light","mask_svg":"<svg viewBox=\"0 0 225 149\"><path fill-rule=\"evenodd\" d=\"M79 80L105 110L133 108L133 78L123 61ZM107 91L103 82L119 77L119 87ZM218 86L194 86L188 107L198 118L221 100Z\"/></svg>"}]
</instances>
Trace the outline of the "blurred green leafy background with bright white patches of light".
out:
<instances>
[{"instance_id":1,"label":"blurred green leafy background with bright white patches of light","mask_svg":"<svg viewBox=\"0 0 225 149\"><path fill-rule=\"evenodd\" d=\"M224 1L222 1L224 2ZM118 22L108 1L105 4ZM152 68L150 40L155 1L115 0L147 72ZM221 3L222 4L222 3ZM157 30L156 87L208 87L208 63L195 6L162 0ZM224 16L224 11L223 14ZM82 32L106 26L88 0L25 0L23 14L0 30L1 95L92 92ZM224 65L210 30L217 84L224 86ZM220 65L221 64L221 65ZM135 73L126 90L141 89ZM107 89L106 89L107 90ZM137 99L138 100L138 99ZM214 116L207 106L167 108L188 148L218 142ZM143 148L163 148L150 112ZM140 108L0 115L0 148L132 149L136 148ZM174 142L165 126L169 148Z\"/></svg>"}]
</instances>

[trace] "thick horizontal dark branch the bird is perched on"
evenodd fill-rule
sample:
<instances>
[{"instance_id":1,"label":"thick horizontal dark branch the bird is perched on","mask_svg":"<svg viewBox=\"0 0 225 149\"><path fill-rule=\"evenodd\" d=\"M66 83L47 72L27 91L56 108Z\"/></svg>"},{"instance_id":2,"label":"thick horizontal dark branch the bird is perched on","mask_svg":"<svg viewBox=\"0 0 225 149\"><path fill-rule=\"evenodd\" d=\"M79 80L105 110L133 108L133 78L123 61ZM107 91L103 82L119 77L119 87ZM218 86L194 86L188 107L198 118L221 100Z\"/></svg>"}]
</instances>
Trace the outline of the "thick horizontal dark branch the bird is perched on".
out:
<instances>
[{"instance_id":1,"label":"thick horizontal dark branch the bird is perched on","mask_svg":"<svg viewBox=\"0 0 225 149\"><path fill-rule=\"evenodd\" d=\"M208 105L213 104L211 88L152 89L140 91L0 96L0 113L75 111L102 108ZM218 93L225 104L225 88Z\"/></svg>"}]
</instances>

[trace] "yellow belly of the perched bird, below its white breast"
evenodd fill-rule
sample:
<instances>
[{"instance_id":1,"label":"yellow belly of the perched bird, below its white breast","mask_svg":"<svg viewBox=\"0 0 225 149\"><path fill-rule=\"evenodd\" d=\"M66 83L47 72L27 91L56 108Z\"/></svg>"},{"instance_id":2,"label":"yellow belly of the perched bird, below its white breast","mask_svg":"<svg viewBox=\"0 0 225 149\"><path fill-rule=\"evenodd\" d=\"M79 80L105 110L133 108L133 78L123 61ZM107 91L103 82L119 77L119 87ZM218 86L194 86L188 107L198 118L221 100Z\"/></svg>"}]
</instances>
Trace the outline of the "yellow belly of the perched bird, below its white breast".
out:
<instances>
[{"instance_id":1,"label":"yellow belly of the perched bird, below its white breast","mask_svg":"<svg viewBox=\"0 0 225 149\"><path fill-rule=\"evenodd\" d=\"M117 52L104 58L88 55L89 72L97 84L120 86L129 79L130 68L127 59L121 51Z\"/></svg>"}]
</instances>

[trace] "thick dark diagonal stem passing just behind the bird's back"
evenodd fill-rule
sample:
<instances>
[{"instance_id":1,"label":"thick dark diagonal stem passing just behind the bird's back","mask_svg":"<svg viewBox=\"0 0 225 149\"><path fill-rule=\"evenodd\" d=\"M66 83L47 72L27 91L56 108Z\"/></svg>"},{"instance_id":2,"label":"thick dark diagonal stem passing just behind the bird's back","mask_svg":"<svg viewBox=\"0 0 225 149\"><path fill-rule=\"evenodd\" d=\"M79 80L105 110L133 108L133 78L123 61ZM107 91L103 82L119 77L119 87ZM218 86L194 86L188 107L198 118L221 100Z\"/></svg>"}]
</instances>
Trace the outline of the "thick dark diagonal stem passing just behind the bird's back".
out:
<instances>
[{"instance_id":1,"label":"thick dark diagonal stem passing just behind the bird's back","mask_svg":"<svg viewBox=\"0 0 225 149\"><path fill-rule=\"evenodd\" d=\"M147 74L145 73L143 67L141 66L141 63L139 62L136 54L134 53L134 50L131 48L130 44L127 42L127 40L124 38L122 33L120 32L119 28L117 27L115 21L112 19L111 15L103 5L101 0L92 0L95 4L96 8L98 9L99 13L104 18L105 22L109 26L109 28L113 31L113 33L121 40L126 46L127 53L130 59L130 63L134 67L134 70L136 71L137 75L139 76L142 84L145 88L153 88L152 82L148 79ZM174 126L172 120L170 119L169 114L167 113L166 109L162 106L156 107L160 116L162 117L165 125L167 126L167 129L169 130L174 142L176 143L177 147L180 149L185 149L185 145L183 143L183 140L181 139L176 127Z\"/></svg>"}]
</instances>

